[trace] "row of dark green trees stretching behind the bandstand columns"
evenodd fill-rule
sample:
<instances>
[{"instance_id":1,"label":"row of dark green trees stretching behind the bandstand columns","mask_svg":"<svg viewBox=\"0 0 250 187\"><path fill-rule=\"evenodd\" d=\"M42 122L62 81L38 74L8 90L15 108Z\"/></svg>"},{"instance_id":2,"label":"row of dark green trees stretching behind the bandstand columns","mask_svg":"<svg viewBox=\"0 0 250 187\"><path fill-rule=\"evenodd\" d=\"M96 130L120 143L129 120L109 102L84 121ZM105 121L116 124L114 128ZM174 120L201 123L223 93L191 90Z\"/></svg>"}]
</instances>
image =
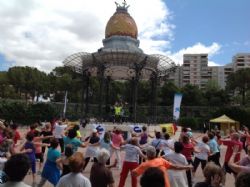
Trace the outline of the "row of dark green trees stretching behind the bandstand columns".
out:
<instances>
[{"instance_id":1,"label":"row of dark green trees stretching behind the bandstand columns","mask_svg":"<svg viewBox=\"0 0 250 187\"><path fill-rule=\"evenodd\" d=\"M106 82L104 83L106 85ZM237 104L237 97L241 95L242 105L247 104L250 89L250 69L242 69L228 76L226 90L219 88L214 80L208 81L204 89L194 85L185 85L178 88L171 81L159 83L157 87L157 105L173 105L174 94L183 93L184 106L222 106L232 102ZM83 100L83 76L72 71L69 67L56 67L50 73L39 71L31 67L12 67L6 72L0 72L0 97L10 99L34 100L35 96L52 96L52 100L63 102L65 91L68 92L68 101L81 103ZM99 81L90 77L89 101L97 104L99 100ZM114 104L118 100L132 102L131 81L110 80L108 102ZM140 81L138 85L138 104L149 105L151 101L150 81ZM232 99L232 94L234 95ZM231 99L230 99L231 98ZM248 103L250 104L250 103Z\"/></svg>"}]
</instances>

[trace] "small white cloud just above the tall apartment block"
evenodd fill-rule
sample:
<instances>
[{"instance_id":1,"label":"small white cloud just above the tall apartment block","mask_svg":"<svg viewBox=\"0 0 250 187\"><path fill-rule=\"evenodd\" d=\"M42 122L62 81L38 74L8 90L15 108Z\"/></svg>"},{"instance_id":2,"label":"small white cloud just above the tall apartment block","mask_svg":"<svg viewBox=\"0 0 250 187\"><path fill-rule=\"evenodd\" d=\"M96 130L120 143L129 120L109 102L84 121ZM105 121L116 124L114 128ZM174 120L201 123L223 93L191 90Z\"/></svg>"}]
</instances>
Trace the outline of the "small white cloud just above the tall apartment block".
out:
<instances>
[{"instance_id":1,"label":"small white cloud just above the tall apartment block","mask_svg":"<svg viewBox=\"0 0 250 187\"><path fill-rule=\"evenodd\" d=\"M169 57L172 60L174 60L175 63L181 65L183 63L183 54L207 53L208 58L210 59L214 55L218 54L220 49L221 49L221 45L216 43L216 42L214 42L208 46L206 46L202 43L196 43L193 46L181 49L178 52L175 52L175 53L167 52L167 54L169 55ZM211 60L208 61L208 65L209 66L214 66L214 65L218 66L218 64L216 64L215 62L213 62Z\"/></svg>"}]
</instances>

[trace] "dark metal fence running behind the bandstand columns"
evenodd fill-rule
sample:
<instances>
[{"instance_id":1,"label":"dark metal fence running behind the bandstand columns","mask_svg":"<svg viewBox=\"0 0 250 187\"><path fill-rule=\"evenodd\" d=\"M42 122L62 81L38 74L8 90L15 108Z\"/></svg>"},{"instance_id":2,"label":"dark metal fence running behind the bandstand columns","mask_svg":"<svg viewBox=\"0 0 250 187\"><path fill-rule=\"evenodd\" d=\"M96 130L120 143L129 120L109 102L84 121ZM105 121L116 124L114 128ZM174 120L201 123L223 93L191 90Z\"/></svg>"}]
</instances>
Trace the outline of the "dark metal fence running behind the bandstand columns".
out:
<instances>
[{"instance_id":1,"label":"dark metal fence running behind the bandstand columns","mask_svg":"<svg viewBox=\"0 0 250 187\"><path fill-rule=\"evenodd\" d=\"M64 103L52 103L55 107L58 114L63 113ZM132 112L130 111L130 106L127 106L125 109L126 115L125 119L127 121L132 121ZM217 110L218 107L209 107L209 106L182 106L181 107L181 116L188 117L202 117L202 118L210 118L211 113ZM89 105L89 113L87 117L90 118L98 118L103 121L110 121L114 115L112 109L106 110L105 107L102 108L102 116L99 115L98 105L90 104ZM153 123L153 116L151 114L150 106L137 106L137 122L138 123ZM80 103L68 103L67 110L65 116L69 119L81 119L86 117L85 113L82 112L82 106ZM162 122L171 122L173 121L173 106L157 106L156 107L156 123Z\"/></svg>"}]
</instances>

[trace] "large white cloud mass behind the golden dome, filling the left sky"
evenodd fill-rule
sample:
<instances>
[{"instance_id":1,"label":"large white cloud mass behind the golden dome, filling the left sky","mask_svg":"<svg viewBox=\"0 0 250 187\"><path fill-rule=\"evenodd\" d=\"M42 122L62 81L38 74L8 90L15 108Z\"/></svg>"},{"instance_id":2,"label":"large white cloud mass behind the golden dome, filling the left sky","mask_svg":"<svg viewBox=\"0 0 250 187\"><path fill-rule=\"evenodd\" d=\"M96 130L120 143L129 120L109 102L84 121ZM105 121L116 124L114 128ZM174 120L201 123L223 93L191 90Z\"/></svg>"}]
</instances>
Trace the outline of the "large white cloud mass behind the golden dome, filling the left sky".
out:
<instances>
[{"instance_id":1,"label":"large white cloud mass behind the golden dome, filling the left sky","mask_svg":"<svg viewBox=\"0 0 250 187\"><path fill-rule=\"evenodd\" d=\"M159 53L170 46L174 25L169 23L171 13L164 1L127 3L141 48ZM114 1L100 0L0 1L0 54L15 65L51 71L73 53L102 47L105 26L115 8Z\"/></svg>"}]
</instances>

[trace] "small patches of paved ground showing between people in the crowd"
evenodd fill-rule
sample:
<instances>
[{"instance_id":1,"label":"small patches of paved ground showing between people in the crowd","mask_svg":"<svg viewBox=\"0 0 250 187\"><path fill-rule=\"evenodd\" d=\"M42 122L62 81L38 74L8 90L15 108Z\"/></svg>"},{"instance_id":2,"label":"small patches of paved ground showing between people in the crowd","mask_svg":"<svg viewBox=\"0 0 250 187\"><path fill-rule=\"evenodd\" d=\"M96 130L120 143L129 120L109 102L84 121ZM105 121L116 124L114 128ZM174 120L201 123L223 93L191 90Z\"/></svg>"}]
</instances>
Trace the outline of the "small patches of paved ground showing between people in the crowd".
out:
<instances>
[{"instance_id":1,"label":"small patches of paved ground showing between people in the crowd","mask_svg":"<svg viewBox=\"0 0 250 187\"><path fill-rule=\"evenodd\" d=\"M153 132L152 132L153 133ZM179 135L179 132L177 132L176 136L174 137L175 139L177 139ZM200 134L199 133L194 133L194 137L197 137L199 136ZM223 160L224 160L224 155L225 155L225 150L226 150L226 147L222 146L221 147L221 164L223 164ZM84 152L85 149L79 149L79 151L82 151ZM124 156L124 153L122 153L122 156ZM114 158L112 158L113 160ZM87 177L89 177L89 172L90 172L90 168L91 168L91 165L92 163L90 162L87 166L87 168L85 169L85 171L83 172L83 174ZM120 170L118 169L112 169L112 172L113 172L113 176L114 176L114 179L115 179L115 186L118 186L118 183L119 183L119 178L120 178ZM37 176L37 179L36 181L39 182L40 180L40 176L38 175ZM196 172L196 175L195 175L195 178L193 179L194 182L197 182L197 181L203 181L204 180L204 177L202 175L202 171L201 171L201 168L199 167L199 169L197 170ZM31 175L27 175L25 177L25 182L29 185L31 185L32 183L32 180L31 180ZM138 177L138 182L139 182L139 177ZM48 182L45 184L45 187L50 187L52 186L51 184L49 184ZM130 179L130 175L128 176L127 178L127 181L126 181L126 185L125 187L130 187L131 186L131 179ZM138 185L139 186L139 185ZM226 176L226 184L225 184L226 187L233 187L234 186L234 178L232 175L227 175Z\"/></svg>"}]
</instances>

